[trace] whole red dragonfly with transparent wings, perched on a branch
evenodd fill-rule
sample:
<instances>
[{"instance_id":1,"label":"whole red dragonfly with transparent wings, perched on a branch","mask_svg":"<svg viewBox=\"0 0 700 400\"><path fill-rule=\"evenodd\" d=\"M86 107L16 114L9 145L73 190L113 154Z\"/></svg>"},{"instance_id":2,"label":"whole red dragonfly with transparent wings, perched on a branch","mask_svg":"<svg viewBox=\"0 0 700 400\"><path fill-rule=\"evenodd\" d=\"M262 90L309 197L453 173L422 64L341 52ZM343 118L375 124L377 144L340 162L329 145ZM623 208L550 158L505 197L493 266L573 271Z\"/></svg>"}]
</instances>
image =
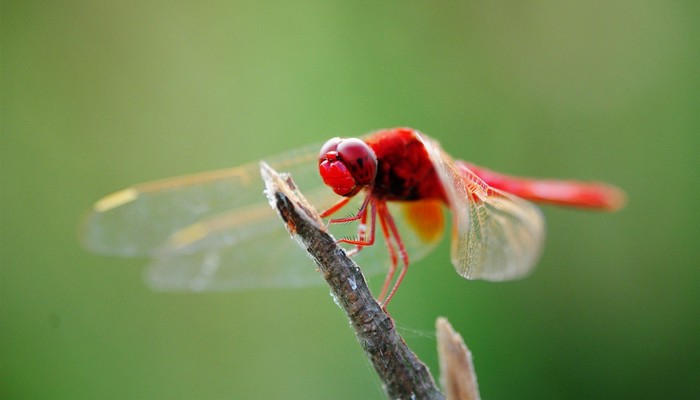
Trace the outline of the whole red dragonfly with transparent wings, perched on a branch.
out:
<instances>
[{"instance_id":1,"label":"whole red dragonfly with transparent wings, perched on a branch","mask_svg":"<svg viewBox=\"0 0 700 400\"><path fill-rule=\"evenodd\" d=\"M365 274L388 262L379 296L384 305L401 283L409 258L424 257L442 238L445 208L452 213L451 258L457 273L501 281L527 274L542 250L543 216L524 199L608 211L625 202L620 189L604 183L517 178L452 160L436 141L408 128L363 139L333 138L320 154L317 149L266 161L289 172L309 202L326 210L324 217L353 204L355 212L329 222L342 236L340 242L354 246L349 252L360 259ZM95 203L82 242L104 255L151 258L146 280L159 290L321 283L263 201L259 176L258 163L251 163L120 190ZM382 235L375 235L377 220ZM351 221L359 223L346 224ZM382 246L371 246L376 242L384 242L389 257L376 251Z\"/></svg>"}]
</instances>

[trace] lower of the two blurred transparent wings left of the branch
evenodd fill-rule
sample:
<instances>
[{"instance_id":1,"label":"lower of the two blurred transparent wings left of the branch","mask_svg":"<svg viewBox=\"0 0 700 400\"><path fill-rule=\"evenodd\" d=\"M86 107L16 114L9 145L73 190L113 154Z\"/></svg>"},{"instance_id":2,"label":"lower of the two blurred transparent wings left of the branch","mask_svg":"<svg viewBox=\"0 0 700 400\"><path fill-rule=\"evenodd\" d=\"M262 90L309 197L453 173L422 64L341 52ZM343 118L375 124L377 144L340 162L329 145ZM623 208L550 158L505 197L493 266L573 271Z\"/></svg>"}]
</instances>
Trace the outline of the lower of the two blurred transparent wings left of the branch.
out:
<instances>
[{"instance_id":1,"label":"lower of the two blurred transparent wings left of the branch","mask_svg":"<svg viewBox=\"0 0 700 400\"><path fill-rule=\"evenodd\" d=\"M158 290L193 291L323 282L313 261L264 199L173 234L155 252L146 280Z\"/></svg>"}]
</instances>

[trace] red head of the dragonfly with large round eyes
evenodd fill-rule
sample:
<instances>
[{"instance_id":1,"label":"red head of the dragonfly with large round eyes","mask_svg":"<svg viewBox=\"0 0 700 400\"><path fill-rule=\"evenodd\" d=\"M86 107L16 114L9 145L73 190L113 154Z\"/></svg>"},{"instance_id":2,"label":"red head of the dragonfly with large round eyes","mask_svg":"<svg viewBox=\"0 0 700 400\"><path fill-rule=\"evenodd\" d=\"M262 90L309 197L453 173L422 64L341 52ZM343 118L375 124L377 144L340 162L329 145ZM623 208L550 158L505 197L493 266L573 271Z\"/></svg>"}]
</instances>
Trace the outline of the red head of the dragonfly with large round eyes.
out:
<instances>
[{"instance_id":1,"label":"red head of the dragonfly with large round eyes","mask_svg":"<svg viewBox=\"0 0 700 400\"><path fill-rule=\"evenodd\" d=\"M374 183L377 156L367 143L357 138L333 138L321 147L318 170L323 183L345 197L356 195Z\"/></svg>"}]
</instances>

